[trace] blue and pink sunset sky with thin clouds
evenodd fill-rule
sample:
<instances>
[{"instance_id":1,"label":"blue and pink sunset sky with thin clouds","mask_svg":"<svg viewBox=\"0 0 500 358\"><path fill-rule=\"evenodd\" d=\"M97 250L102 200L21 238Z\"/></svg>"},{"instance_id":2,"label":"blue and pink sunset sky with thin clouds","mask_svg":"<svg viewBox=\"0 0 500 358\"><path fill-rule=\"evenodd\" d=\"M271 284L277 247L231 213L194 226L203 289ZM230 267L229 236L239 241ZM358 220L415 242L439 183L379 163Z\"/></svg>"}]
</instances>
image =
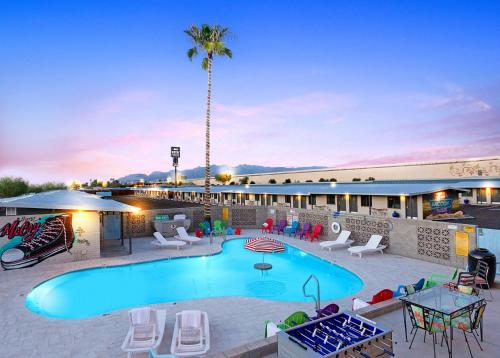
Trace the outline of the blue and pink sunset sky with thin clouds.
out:
<instances>
[{"instance_id":1,"label":"blue and pink sunset sky with thin clouds","mask_svg":"<svg viewBox=\"0 0 500 358\"><path fill-rule=\"evenodd\" d=\"M212 163L347 166L500 155L499 1L0 1L0 176L37 183Z\"/></svg>"}]
</instances>

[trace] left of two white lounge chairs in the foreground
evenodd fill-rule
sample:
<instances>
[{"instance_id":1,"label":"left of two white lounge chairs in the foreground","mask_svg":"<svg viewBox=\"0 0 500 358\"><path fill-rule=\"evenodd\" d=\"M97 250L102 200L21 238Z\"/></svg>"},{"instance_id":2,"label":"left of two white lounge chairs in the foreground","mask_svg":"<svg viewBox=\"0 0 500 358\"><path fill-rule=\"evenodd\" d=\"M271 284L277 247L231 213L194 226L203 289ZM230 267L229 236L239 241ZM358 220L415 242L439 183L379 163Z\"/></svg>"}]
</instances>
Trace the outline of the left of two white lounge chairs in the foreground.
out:
<instances>
[{"instance_id":1,"label":"left of two white lounge chairs in the foreground","mask_svg":"<svg viewBox=\"0 0 500 358\"><path fill-rule=\"evenodd\" d=\"M134 308L128 314L130 328L122 343L122 350L127 352L127 357L156 349L163 339L167 311L142 307Z\"/></svg>"}]
</instances>

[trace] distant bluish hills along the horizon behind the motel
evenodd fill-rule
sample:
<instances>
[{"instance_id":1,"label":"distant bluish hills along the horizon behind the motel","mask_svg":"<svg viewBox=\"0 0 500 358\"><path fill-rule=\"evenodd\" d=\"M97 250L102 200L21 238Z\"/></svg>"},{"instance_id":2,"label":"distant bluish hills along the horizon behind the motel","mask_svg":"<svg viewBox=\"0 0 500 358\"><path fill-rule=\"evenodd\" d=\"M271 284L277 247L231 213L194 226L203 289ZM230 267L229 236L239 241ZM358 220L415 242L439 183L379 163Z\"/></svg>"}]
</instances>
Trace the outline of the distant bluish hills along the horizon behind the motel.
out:
<instances>
[{"instance_id":1,"label":"distant bluish hills along the horizon behind the motel","mask_svg":"<svg viewBox=\"0 0 500 358\"><path fill-rule=\"evenodd\" d=\"M322 169L324 167L265 167L261 165L250 165L250 164L241 164L236 167L229 167L227 165L212 165L210 166L210 173L212 175L222 172L227 169L231 169L231 171L236 175L245 175L245 174L258 174L258 173L268 173L268 172L286 172L289 170L308 170L308 169ZM189 179L202 178L205 175L205 167L196 167L192 169L183 169L182 176ZM160 172L154 171L151 174L129 174L124 177L118 178L121 183L130 183L137 182L141 179L144 181L158 181L165 180L168 177L173 177L174 171L170 170L168 172Z\"/></svg>"}]
</instances>

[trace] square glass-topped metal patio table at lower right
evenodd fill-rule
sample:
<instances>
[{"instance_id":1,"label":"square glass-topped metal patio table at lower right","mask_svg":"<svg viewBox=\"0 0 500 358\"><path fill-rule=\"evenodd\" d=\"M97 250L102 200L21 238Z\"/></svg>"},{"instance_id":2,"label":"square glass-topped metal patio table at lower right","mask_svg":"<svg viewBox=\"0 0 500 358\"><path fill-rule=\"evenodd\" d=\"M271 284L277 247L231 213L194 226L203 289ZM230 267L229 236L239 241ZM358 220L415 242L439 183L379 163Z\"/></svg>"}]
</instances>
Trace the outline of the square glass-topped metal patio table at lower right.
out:
<instances>
[{"instance_id":1,"label":"square glass-topped metal patio table at lower right","mask_svg":"<svg viewBox=\"0 0 500 358\"><path fill-rule=\"evenodd\" d=\"M451 320L463 315L484 301L484 297L466 295L444 286L434 286L399 298L403 303L403 319L405 324L405 339L408 342L406 328L406 303L427 308L450 318L450 357L453 356L453 325ZM483 341L483 321L480 325L481 342Z\"/></svg>"}]
</instances>

